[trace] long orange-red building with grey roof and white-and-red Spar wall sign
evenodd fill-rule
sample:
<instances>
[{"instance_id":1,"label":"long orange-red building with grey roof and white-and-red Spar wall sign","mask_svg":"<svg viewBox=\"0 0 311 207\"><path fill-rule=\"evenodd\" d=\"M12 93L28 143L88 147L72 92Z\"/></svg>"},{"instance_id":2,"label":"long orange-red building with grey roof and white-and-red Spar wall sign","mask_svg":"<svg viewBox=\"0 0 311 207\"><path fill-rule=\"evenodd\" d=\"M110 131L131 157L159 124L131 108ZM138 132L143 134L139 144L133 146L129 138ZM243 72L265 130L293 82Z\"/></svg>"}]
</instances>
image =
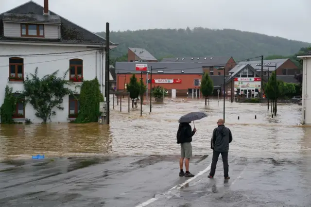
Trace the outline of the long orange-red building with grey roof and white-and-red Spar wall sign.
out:
<instances>
[{"instance_id":1,"label":"long orange-red building with grey roof and white-and-red Spar wall sign","mask_svg":"<svg viewBox=\"0 0 311 207\"><path fill-rule=\"evenodd\" d=\"M141 72L136 71L135 62L116 62L117 73L117 90L126 90L125 85L130 82L133 74L140 78ZM201 97L200 84L204 66L202 63L176 63L176 62L150 62L139 63L148 64L149 73L142 73L144 83L147 83L148 92L150 93L150 68L152 67L152 87L163 86L168 89L169 94L172 89L176 89L176 96L193 96ZM220 71L220 70L219 70ZM214 83L215 95L217 89L223 83L224 76L210 75Z\"/></svg>"}]
</instances>

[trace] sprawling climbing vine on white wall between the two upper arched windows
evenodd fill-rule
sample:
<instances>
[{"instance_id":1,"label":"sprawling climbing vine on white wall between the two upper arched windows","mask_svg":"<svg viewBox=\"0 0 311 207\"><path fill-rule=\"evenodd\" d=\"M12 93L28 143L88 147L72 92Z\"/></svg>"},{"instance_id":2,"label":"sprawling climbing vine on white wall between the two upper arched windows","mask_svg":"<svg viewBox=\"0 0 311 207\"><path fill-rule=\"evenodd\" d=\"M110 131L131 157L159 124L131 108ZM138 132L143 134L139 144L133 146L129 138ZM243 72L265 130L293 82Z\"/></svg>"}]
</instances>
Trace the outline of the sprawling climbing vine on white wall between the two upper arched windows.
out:
<instances>
[{"instance_id":1,"label":"sprawling climbing vine on white wall between the two upper arched windows","mask_svg":"<svg viewBox=\"0 0 311 207\"><path fill-rule=\"evenodd\" d=\"M26 102L30 103L36 110L35 116L42 119L43 123L56 115L55 107L64 110L63 98L74 92L66 85L70 84L66 79L67 72L63 77L57 76L58 70L50 75L45 75L41 79L38 77L38 68L35 74L30 73L31 78L27 75L24 80L24 91L21 92L26 98Z\"/></svg>"}]
</instances>

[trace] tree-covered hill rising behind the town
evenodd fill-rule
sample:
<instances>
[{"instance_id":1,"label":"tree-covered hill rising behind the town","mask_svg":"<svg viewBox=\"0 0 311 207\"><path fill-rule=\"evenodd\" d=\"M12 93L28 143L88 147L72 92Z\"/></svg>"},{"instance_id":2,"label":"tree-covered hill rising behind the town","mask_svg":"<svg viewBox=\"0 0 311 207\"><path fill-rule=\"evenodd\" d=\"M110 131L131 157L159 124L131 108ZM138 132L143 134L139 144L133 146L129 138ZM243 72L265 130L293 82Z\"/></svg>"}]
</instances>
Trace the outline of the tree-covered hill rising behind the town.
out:
<instances>
[{"instance_id":1,"label":"tree-covered hill rising behind the town","mask_svg":"<svg viewBox=\"0 0 311 207\"><path fill-rule=\"evenodd\" d=\"M98 35L105 37L104 32ZM146 49L156 58L229 55L237 60L259 55L291 55L311 45L258 33L205 28L111 32L110 40L119 44L111 53L113 57L126 54L129 47L136 47Z\"/></svg>"}]
</instances>

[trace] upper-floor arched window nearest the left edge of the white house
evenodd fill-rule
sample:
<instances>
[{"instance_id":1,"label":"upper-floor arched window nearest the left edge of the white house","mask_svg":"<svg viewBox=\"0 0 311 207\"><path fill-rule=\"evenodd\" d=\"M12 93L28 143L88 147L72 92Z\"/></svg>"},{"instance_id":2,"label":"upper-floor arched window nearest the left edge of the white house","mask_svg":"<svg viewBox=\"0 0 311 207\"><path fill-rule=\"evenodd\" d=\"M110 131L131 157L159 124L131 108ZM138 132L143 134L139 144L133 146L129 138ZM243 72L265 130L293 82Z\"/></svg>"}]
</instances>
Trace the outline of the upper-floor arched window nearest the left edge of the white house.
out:
<instances>
[{"instance_id":1,"label":"upper-floor arched window nearest the left edge of the white house","mask_svg":"<svg viewBox=\"0 0 311 207\"><path fill-rule=\"evenodd\" d=\"M9 58L9 81L24 81L24 59L20 57Z\"/></svg>"}]
</instances>

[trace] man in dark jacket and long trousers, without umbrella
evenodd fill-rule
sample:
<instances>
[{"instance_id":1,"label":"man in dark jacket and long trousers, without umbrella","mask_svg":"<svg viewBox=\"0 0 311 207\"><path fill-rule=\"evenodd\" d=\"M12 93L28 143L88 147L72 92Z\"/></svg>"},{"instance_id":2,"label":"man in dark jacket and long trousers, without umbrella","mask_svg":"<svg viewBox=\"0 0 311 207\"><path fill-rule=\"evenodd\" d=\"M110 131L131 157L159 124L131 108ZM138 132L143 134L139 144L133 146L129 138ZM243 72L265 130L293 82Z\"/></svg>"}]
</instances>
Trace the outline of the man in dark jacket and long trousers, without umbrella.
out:
<instances>
[{"instance_id":1,"label":"man in dark jacket and long trousers, without umbrella","mask_svg":"<svg viewBox=\"0 0 311 207\"><path fill-rule=\"evenodd\" d=\"M210 148L213 149L212 164L210 167L209 178L213 178L216 171L216 165L219 154L222 154L224 163L224 176L225 179L229 177L229 164L228 164L228 151L229 143L232 141L232 134L229 128L225 127L224 120L220 119L217 121L218 127L213 131L213 136L210 140Z\"/></svg>"}]
</instances>

